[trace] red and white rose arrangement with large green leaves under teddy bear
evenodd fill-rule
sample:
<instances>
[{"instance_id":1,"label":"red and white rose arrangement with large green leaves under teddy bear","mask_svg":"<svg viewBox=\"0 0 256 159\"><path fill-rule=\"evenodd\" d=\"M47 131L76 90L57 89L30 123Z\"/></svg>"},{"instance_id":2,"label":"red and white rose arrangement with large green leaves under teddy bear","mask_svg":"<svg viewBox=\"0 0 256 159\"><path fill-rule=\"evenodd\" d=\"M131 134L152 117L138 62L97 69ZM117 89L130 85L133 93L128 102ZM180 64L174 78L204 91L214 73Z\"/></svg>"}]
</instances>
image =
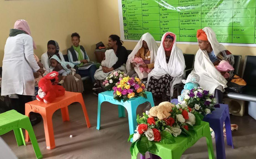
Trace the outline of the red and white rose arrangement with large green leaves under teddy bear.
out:
<instances>
[{"instance_id":1,"label":"red and white rose arrangement with large green leaves under teddy bear","mask_svg":"<svg viewBox=\"0 0 256 159\"><path fill-rule=\"evenodd\" d=\"M157 117L150 118L143 113L142 117L137 115L137 129L130 135L128 142L133 138L130 147L131 154L134 152L135 145L142 155L145 152L158 152L155 143L172 144L175 137L180 134L185 136L195 135L193 126L200 125L202 118L197 112L187 107L186 104L175 105L168 118L159 120Z\"/></svg>"}]
</instances>

